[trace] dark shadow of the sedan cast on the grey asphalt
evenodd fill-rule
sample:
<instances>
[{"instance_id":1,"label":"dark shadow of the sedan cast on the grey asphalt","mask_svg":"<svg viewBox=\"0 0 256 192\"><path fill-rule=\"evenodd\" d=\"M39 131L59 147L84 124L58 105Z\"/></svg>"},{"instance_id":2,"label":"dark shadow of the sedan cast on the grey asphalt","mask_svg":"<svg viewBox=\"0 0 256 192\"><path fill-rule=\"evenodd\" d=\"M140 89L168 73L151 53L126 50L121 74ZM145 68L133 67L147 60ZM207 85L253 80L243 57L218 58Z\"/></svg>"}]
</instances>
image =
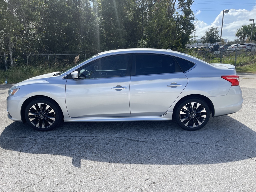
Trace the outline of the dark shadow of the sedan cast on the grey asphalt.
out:
<instances>
[{"instance_id":1,"label":"dark shadow of the sedan cast on the grey asphalt","mask_svg":"<svg viewBox=\"0 0 256 192\"><path fill-rule=\"evenodd\" d=\"M256 133L231 118L210 118L198 131L180 129L173 121L63 123L49 132L21 122L5 127L0 146L29 154L72 157L129 164L212 164L255 157ZM70 162L71 163L71 162Z\"/></svg>"}]
</instances>

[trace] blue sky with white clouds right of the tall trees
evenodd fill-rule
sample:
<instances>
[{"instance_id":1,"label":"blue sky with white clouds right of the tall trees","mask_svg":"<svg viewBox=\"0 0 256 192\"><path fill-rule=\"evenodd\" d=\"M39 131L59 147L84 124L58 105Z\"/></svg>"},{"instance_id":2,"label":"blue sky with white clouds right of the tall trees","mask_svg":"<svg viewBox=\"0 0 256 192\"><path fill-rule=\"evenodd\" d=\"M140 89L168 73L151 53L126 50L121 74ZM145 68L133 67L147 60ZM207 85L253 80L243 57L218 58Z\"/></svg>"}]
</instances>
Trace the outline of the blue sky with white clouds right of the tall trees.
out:
<instances>
[{"instance_id":1,"label":"blue sky with white clouds right of the tall trees","mask_svg":"<svg viewBox=\"0 0 256 192\"><path fill-rule=\"evenodd\" d=\"M220 35L223 10L229 10L229 13L224 13L222 39L236 39L237 29L252 23L249 19L254 19L256 24L256 0L194 0L191 10L197 18L196 39L200 39L210 27L218 27Z\"/></svg>"}]
</instances>

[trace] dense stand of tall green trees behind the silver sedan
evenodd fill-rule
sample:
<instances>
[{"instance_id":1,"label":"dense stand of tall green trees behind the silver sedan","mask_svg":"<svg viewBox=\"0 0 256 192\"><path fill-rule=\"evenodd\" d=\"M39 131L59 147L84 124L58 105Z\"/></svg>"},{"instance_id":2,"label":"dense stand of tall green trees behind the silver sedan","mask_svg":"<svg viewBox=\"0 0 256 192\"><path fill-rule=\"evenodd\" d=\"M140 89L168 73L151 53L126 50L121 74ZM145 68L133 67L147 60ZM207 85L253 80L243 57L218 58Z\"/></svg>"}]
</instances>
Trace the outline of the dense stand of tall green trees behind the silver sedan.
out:
<instances>
[{"instance_id":1,"label":"dense stand of tall green trees behind the silver sedan","mask_svg":"<svg viewBox=\"0 0 256 192\"><path fill-rule=\"evenodd\" d=\"M193 0L0 0L0 51L184 48ZM15 58L15 61L17 59Z\"/></svg>"}]
</instances>

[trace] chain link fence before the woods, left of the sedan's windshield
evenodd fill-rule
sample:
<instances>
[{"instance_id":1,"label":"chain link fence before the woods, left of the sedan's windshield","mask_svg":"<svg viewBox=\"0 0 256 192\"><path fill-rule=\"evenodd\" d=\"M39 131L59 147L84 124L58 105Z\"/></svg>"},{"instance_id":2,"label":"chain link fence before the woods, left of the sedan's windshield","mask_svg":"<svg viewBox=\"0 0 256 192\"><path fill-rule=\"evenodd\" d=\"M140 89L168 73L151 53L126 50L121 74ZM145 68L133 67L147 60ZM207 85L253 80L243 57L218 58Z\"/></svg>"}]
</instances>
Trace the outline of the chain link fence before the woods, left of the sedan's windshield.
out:
<instances>
[{"instance_id":1,"label":"chain link fence before the woods, left of the sedan's windshield","mask_svg":"<svg viewBox=\"0 0 256 192\"><path fill-rule=\"evenodd\" d=\"M13 65L29 65L32 67L56 67L67 68L75 64L75 58L79 55L79 61L83 61L95 54L13 54ZM10 55L0 54L0 70L11 67Z\"/></svg>"}]
</instances>

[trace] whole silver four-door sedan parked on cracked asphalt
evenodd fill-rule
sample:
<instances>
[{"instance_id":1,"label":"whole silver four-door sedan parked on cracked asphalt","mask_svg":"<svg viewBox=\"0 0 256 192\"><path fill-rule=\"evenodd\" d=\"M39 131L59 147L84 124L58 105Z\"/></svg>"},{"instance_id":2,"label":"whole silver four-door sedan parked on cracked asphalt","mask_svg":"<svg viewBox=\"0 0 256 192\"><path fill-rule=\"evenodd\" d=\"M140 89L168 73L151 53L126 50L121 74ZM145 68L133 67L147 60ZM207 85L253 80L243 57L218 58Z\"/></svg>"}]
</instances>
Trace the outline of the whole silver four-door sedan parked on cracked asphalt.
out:
<instances>
[{"instance_id":1,"label":"whole silver four-door sedan parked on cracked asphalt","mask_svg":"<svg viewBox=\"0 0 256 192\"><path fill-rule=\"evenodd\" d=\"M171 50L121 49L15 84L8 91L7 112L38 131L61 121L172 119L194 131L210 114L235 113L242 103L239 76L228 65Z\"/></svg>"}]
</instances>

